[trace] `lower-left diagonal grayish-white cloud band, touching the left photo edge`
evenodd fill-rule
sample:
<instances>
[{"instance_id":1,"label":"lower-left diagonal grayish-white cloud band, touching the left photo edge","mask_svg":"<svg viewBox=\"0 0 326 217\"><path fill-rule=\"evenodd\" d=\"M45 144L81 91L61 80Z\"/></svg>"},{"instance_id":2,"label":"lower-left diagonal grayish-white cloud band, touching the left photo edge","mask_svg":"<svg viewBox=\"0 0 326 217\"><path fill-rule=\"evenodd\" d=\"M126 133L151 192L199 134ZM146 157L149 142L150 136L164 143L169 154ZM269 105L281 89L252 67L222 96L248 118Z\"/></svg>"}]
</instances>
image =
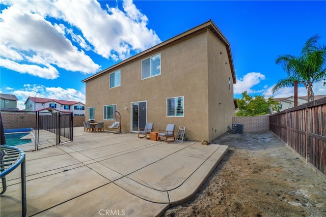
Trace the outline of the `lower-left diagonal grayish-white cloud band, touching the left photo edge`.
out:
<instances>
[{"instance_id":1,"label":"lower-left diagonal grayish-white cloud band, touching the left photo edge","mask_svg":"<svg viewBox=\"0 0 326 217\"><path fill-rule=\"evenodd\" d=\"M99 69L83 50L78 51L71 41L39 14L12 6L2 11L0 19L2 48L11 51L1 53L3 67L46 79L59 76L55 65L85 74Z\"/></svg>"}]
</instances>

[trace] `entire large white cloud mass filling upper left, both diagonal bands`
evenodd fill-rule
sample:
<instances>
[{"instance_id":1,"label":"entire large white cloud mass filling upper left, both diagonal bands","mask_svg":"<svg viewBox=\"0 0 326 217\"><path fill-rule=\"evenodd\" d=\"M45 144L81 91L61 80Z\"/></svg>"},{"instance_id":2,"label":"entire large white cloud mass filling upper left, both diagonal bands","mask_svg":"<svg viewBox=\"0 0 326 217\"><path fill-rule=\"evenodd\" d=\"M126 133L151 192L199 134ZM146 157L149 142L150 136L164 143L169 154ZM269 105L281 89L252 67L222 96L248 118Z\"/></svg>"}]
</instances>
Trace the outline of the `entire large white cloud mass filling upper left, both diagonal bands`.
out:
<instances>
[{"instance_id":1,"label":"entire large white cloud mass filling upper left, both diagonal bands","mask_svg":"<svg viewBox=\"0 0 326 217\"><path fill-rule=\"evenodd\" d=\"M95 73L100 66L85 53L95 52L104 58L121 60L160 42L148 19L132 3L122 9L97 1L3 1L9 6L0 14L1 53L11 70L31 65L43 69L42 75L53 79L51 67L68 71ZM19 33L19 34L17 34ZM19 66L21 65L21 66ZM13 67L15 66L15 67ZM58 69L57 69L58 71ZM30 73L26 70L24 73Z\"/></svg>"}]
</instances>

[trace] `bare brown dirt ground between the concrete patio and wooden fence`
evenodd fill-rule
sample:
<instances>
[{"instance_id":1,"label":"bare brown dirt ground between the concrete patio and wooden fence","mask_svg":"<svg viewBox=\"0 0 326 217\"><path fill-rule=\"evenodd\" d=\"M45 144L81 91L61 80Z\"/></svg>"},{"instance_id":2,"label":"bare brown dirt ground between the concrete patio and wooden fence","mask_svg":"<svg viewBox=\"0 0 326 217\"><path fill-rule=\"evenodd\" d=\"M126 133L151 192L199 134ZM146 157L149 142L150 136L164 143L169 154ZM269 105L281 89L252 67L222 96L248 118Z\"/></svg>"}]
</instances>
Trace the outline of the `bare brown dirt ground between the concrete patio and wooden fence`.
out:
<instances>
[{"instance_id":1,"label":"bare brown dirt ground between the concrete patio and wooden fence","mask_svg":"<svg viewBox=\"0 0 326 217\"><path fill-rule=\"evenodd\" d=\"M270 132L226 134L195 197L162 216L326 216L326 182Z\"/></svg>"}]
</instances>

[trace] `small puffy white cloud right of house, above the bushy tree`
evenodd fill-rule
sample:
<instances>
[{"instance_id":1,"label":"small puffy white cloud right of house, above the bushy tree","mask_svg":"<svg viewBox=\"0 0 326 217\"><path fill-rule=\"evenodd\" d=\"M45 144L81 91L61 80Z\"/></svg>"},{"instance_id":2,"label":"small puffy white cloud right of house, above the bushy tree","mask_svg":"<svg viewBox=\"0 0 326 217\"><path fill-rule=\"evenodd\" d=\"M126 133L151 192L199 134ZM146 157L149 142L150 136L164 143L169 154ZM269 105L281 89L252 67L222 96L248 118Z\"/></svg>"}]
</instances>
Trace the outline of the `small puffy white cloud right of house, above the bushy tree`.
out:
<instances>
[{"instance_id":1,"label":"small puffy white cloud right of house, above the bushy tree","mask_svg":"<svg viewBox=\"0 0 326 217\"><path fill-rule=\"evenodd\" d=\"M248 94L253 94L255 92L262 92L263 90L254 90L253 87L261 80L265 80L265 75L259 72L250 72L243 76L243 78L237 78L234 84L234 94L241 94L243 91L247 91Z\"/></svg>"}]
</instances>

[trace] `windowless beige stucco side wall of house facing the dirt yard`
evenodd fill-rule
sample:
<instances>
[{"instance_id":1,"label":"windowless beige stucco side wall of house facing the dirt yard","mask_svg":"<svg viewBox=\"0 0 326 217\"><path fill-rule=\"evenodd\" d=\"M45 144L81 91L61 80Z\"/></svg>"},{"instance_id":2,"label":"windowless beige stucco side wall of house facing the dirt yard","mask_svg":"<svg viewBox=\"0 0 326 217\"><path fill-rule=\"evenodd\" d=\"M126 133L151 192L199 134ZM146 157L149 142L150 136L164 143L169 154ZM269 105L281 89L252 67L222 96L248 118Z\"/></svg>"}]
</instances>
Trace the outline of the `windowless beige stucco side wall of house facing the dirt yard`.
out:
<instances>
[{"instance_id":1,"label":"windowless beige stucco side wall of house facing the dirt yard","mask_svg":"<svg viewBox=\"0 0 326 217\"><path fill-rule=\"evenodd\" d=\"M209 30L208 35L208 99L209 140L228 131L234 114L233 79L226 46ZM222 52L222 53L221 53ZM229 88L229 78L231 81Z\"/></svg>"}]
</instances>

